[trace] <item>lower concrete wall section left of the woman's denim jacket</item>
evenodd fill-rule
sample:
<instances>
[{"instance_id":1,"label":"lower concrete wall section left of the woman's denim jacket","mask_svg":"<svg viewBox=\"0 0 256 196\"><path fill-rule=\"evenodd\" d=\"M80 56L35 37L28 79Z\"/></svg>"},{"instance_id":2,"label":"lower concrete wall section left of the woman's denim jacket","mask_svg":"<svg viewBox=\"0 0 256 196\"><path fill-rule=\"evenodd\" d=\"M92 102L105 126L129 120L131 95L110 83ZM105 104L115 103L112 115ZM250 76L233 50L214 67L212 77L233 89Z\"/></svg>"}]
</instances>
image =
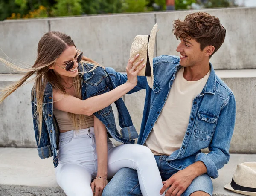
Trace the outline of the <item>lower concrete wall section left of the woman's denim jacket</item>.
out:
<instances>
[{"instance_id":1,"label":"lower concrete wall section left of the woman's denim jacket","mask_svg":"<svg viewBox=\"0 0 256 196\"><path fill-rule=\"evenodd\" d=\"M17 81L17 76L0 77L0 88ZM18 77L19 78L19 77ZM35 147L29 83L0 104L0 147Z\"/></svg>"}]
</instances>

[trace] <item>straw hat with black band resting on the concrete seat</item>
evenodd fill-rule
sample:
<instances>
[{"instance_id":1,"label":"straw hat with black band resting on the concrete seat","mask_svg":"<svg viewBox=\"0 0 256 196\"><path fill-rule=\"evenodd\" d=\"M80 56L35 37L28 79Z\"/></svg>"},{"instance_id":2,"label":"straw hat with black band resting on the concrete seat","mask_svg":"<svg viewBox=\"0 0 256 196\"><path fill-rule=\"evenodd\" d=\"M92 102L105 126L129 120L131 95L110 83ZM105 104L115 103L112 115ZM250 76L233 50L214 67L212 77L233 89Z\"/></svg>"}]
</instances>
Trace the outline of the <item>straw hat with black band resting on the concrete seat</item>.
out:
<instances>
[{"instance_id":1,"label":"straw hat with black band resting on the concrete seat","mask_svg":"<svg viewBox=\"0 0 256 196\"><path fill-rule=\"evenodd\" d=\"M224 188L243 195L256 196L256 162L237 164L232 182Z\"/></svg>"}]
</instances>

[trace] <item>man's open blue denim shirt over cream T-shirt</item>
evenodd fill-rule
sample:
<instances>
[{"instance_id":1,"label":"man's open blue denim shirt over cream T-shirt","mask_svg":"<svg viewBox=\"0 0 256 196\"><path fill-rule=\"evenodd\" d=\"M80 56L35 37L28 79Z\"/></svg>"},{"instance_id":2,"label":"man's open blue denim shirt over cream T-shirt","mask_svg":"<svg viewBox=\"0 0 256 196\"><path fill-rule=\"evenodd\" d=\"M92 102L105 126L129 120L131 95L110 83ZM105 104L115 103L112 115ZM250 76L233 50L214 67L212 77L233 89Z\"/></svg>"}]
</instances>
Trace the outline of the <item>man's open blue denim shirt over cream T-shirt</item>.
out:
<instances>
[{"instance_id":1,"label":"man's open blue denim shirt over cream T-shirt","mask_svg":"<svg viewBox=\"0 0 256 196\"><path fill-rule=\"evenodd\" d=\"M151 89L146 77L139 76L137 86L129 93L146 89L145 106L138 144L143 145L148 138L170 92L176 72L181 68L180 58L162 55L153 59L154 85ZM202 92L192 104L190 120L182 146L168 159L166 164L182 170L196 161L202 161L207 167L207 174L218 177L218 169L229 161L229 147L233 135L236 115L236 103L233 92L215 74L211 72ZM116 86L127 81L127 75L106 68ZM210 153L201 153L209 148Z\"/></svg>"}]
</instances>

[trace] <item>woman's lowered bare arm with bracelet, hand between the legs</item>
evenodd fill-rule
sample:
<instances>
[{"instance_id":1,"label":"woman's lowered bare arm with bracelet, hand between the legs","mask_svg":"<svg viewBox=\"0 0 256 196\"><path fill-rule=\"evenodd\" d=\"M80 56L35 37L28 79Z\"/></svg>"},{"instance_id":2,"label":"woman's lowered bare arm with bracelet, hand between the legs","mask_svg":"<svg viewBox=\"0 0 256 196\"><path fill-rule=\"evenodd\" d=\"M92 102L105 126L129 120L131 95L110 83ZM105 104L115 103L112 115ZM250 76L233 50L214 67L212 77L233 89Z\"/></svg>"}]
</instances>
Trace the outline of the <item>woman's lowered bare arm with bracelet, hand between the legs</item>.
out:
<instances>
[{"instance_id":1,"label":"woman's lowered bare arm with bracelet, hand between the legs","mask_svg":"<svg viewBox=\"0 0 256 196\"><path fill-rule=\"evenodd\" d=\"M108 145L107 130L105 125L94 116L94 133L96 140L96 150L98 157L98 172L96 179L91 183L95 196L101 196L102 191L108 184L107 181L107 164L108 164ZM100 177L100 178L99 178Z\"/></svg>"}]
</instances>

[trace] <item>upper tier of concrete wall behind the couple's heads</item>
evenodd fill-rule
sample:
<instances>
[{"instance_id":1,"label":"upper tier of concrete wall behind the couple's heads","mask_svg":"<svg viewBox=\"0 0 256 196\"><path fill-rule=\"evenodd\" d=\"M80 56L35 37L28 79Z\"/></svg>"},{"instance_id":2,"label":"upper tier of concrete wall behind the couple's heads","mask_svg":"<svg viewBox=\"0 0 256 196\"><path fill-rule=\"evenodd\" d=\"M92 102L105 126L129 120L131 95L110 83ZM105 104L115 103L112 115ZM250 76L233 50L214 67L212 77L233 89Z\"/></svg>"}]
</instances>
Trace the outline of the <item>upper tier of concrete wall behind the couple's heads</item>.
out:
<instances>
[{"instance_id":1,"label":"upper tier of concrete wall behind the couple's heads","mask_svg":"<svg viewBox=\"0 0 256 196\"><path fill-rule=\"evenodd\" d=\"M253 69L256 45L256 8L201 10L219 17L227 29L221 49L212 57L215 69ZM33 64L41 36L49 30L71 35L77 48L90 58L125 71L131 43L136 35L149 34L158 23L154 55L172 54L179 41L172 35L172 21L193 11L151 12L146 14L115 14L104 16L63 17L0 22L0 57L14 62ZM2 50L2 51L1 51ZM6 55L5 55L5 54ZM11 73L0 65L0 73Z\"/></svg>"}]
</instances>

